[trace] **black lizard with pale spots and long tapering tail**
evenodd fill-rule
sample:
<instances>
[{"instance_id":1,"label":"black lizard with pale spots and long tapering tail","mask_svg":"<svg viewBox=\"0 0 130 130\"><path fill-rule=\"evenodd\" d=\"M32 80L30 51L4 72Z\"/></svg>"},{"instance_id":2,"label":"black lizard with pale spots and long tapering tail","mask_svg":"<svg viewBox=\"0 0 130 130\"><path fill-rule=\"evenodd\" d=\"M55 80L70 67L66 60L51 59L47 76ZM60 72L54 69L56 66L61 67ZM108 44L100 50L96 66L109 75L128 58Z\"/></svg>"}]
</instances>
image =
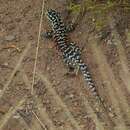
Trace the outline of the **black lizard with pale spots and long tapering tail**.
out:
<instances>
[{"instance_id":1,"label":"black lizard with pale spots and long tapering tail","mask_svg":"<svg viewBox=\"0 0 130 130\"><path fill-rule=\"evenodd\" d=\"M109 112L111 112L111 107L107 108L104 100L100 97L88 66L81 58L81 49L78 45L76 45L76 43L68 40L68 33L74 30L73 24L66 26L60 13L53 9L46 11L46 17L50 22L52 30L45 32L43 37L54 39L58 50L62 53L64 63L70 69L81 71L92 95L103 105L105 109L108 109Z\"/></svg>"}]
</instances>

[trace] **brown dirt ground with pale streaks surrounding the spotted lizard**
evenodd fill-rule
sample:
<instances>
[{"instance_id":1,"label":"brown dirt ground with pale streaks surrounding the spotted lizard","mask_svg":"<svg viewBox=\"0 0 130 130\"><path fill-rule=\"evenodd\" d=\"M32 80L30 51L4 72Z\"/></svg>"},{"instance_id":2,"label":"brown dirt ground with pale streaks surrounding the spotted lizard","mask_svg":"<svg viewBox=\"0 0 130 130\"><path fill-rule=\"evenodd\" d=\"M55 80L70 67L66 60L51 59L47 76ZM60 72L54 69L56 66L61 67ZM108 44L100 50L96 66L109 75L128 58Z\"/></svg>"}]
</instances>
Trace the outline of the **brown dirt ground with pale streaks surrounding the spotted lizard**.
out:
<instances>
[{"instance_id":1,"label":"brown dirt ground with pale streaks surrounding the spotted lizard","mask_svg":"<svg viewBox=\"0 0 130 130\"><path fill-rule=\"evenodd\" d=\"M30 94L41 5L42 0L0 1L0 130L129 130L130 10L107 12L100 31L96 21L104 16L86 11L70 33L83 48L100 96L112 108L108 112L88 91L81 73L66 75L52 40L40 39ZM66 21L79 17L67 6L67 0L45 2L45 9L58 10ZM48 28L43 16L42 32Z\"/></svg>"}]
</instances>

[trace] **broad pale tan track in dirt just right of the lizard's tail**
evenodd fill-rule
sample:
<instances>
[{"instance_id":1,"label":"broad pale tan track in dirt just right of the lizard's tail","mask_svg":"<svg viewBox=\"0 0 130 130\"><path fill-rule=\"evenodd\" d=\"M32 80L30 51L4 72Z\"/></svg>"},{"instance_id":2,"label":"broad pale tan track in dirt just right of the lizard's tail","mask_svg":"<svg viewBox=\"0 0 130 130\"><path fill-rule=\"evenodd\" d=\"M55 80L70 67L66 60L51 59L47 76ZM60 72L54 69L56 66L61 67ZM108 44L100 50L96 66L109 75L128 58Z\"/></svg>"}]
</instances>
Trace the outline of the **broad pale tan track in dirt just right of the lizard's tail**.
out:
<instances>
[{"instance_id":1,"label":"broad pale tan track in dirt just right of the lizard's tail","mask_svg":"<svg viewBox=\"0 0 130 130\"><path fill-rule=\"evenodd\" d=\"M124 95L118 88L119 84L115 81L112 70L110 69L107 63L106 58L104 57L104 54L102 54L102 50L97 46L95 40L90 39L89 43L91 43L90 46L94 54L95 61L98 64L99 71L101 73L101 78L107 83L106 85L107 85L108 94L110 96L112 105L114 106L115 113L117 115L117 119L115 119L115 124L117 127L116 129L126 130L127 128L125 126L119 104L122 103L122 107L124 110L129 109L129 106L125 100ZM120 102L119 102L119 99L120 99Z\"/></svg>"}]
</instances>

